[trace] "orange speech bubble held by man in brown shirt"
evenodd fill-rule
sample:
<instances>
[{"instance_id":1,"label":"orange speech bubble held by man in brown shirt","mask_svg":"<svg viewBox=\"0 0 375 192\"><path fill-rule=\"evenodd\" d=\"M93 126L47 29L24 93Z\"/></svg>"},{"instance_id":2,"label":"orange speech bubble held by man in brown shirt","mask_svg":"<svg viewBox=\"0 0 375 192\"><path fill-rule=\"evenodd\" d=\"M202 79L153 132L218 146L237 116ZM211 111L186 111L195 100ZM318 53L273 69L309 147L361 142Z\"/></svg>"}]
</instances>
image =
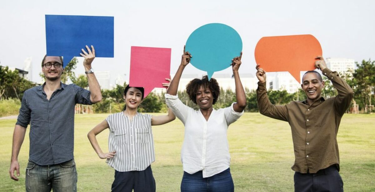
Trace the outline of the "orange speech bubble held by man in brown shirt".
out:
<instances>
[{"instance_id":1,"label":"orange speech bubble held by man in brown shirt","mask_svg":"<svg viewBox=\"0 0 375 192\"><path fill-rule=\"evenodd\" d=\"M288 71L300 82L300 71L315 69L315 57L322 55L312 35L262 37L255 47L255 61L268 72Z\"/></svg>"}]
</instances>

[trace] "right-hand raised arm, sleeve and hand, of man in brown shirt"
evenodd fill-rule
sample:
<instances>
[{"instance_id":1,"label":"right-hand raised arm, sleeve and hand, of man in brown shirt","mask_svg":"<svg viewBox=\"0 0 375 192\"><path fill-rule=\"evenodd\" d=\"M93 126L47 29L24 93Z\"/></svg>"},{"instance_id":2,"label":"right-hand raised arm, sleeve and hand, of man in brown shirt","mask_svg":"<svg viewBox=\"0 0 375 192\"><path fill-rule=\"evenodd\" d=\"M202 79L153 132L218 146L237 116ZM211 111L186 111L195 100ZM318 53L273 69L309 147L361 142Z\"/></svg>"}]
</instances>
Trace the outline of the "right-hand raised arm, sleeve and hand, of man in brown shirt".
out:
<instances>
[{"instance_id":1,"label":"right-hand raised arm, sleeve and hand, of man in brown shirt","mask_svg":"<svg viewBox=\"0 0 375 192\"><path fill-rule=\"evenodd\" d=\"M323 75L331 80L333 87L337 89L338 95L336 95L334 106L339 115L342 116L350 106L354 91L344 79L340 78L336 71L331 71L327 68L327 64L322 56L318 56L315 59L318 59L318 61L315 61L315 67L319 68Z\"/></svg>"}]
</instances>

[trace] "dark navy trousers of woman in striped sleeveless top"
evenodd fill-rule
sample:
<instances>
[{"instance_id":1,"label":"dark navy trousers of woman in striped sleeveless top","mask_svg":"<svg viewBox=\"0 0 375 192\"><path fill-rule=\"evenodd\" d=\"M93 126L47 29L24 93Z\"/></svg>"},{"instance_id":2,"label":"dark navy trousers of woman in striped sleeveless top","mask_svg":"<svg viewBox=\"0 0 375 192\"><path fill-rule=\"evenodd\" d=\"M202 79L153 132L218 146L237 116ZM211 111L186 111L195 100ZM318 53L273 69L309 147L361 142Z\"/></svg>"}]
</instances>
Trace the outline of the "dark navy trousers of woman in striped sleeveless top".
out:
<instances>
[{"instance_id":1,"label":"dark navy trousers of woman in striped sleeveless top","mask_svg":"<svg viewBox=\"0 0 375 192\"><path fill-rule=\"evenodd\" d=\"M152 175L151 165L143 171L115 170L115 180L112 183L113 192L155 192L155 179Z\"/></svg>"}]
</instances>

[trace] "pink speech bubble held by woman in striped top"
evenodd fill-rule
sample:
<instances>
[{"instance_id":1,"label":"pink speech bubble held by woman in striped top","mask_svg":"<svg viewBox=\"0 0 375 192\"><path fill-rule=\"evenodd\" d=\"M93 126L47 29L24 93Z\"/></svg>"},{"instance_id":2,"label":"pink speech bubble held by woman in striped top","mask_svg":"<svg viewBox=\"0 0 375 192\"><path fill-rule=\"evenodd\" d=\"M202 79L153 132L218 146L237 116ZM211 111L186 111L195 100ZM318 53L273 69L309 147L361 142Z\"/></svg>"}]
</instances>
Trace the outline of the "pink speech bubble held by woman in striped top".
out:
<instances>
[{"instance_id":1,"label":"pink speech bubble held by woman in striped top","mask_svg":"<svg viewBox=\"0 0 375 192\"><path fill-rule=\"evenodd\" d=\"M165 88L170 70L170 48L131 47L129 86L143 87L144 97L154 88Z\"/></svg>"}]
</instances>

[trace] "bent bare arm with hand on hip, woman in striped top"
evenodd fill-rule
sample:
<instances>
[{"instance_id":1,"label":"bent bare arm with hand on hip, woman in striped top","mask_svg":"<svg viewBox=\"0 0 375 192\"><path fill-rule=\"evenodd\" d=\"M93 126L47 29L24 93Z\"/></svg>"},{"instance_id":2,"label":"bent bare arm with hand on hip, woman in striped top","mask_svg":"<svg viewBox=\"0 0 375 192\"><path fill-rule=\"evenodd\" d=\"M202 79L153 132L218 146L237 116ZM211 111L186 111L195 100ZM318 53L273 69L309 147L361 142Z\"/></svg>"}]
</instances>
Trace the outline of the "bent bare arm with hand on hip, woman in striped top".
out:
<instances>
[{"instance_id":1,"label":"bent bare arm with hand on hip, woman in striped top","mask_svg":"<svg viewBox=\"0 0 375 192\"><path fill-rule=\"evenodd\" d=\"M91 131L87 134L87 137L90 140L91 145L93 146L95 152L98 154L101 159L110 159L115 155L115 151L109 153L103 153L102 149L99 147L98 140L96 140L96 135L102 132L104 129L110 127L106 120L102 121L100 124L96 125Z\"/></svg>"}]
</instances>

